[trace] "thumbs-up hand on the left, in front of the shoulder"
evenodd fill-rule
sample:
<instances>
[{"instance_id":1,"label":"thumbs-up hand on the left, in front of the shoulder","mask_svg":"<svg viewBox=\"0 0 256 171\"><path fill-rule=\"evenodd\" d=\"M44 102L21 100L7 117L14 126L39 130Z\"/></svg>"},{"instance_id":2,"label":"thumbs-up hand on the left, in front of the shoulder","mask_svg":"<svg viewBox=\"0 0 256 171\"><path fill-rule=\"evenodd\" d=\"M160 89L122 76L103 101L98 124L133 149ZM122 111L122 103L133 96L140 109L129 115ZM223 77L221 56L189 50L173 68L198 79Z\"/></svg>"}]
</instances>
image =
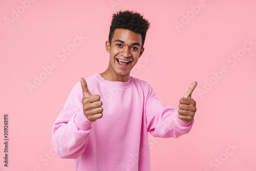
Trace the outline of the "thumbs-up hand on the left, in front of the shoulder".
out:
<instances>
[{"instance_id":1,"label":"thumbs-up hand on the left, in front of the shoulder","mask_svg":"<svg viewBox=\"0 0 256 171\"><path fill-rule=\"evenodd\" d=\"M99 118L102 118L103 108L102 101L100 101L100 96L95 94L92 95L91 92L88 90L87 82L84 78L79 79L81 86L82 86L82 109L83 114L86 118L94 122Z\"/></svg>"}]
</instances>

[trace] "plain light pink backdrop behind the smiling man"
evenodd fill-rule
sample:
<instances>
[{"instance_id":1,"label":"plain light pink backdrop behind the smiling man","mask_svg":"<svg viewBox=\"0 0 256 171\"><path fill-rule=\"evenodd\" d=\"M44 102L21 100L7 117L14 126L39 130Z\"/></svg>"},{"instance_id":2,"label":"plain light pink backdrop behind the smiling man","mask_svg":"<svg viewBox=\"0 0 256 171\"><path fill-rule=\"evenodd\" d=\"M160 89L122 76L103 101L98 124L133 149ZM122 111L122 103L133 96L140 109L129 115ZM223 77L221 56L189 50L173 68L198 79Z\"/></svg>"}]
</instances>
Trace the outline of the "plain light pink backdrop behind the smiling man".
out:
<instances>
[{"instance_id":1,"label":"plain light pink backdrop behind the smiling man","mask_svg":"<svg viewBox=\"0 0 256 171\"><path fill-rule=\"evenodd\" d=\"M256 170L256 44L246 43L256 42L255 1L28 2L0 2L1 170L73 170L72 159L52 151L52 125L79 78L108 66L104 46L119 9L136 10L151 23L132 76L146 80L163 104L176 108L189 84L198 81L193 129L178 139L150 136L152 170ZM76 34L86 38L72 49ZM63 58L67 47L72 52ZM42 67L54 61L53 71L44 75ZM40 74L44 80L30 91L27 84ZM8 168L4 114L9 114Z\"/></svg>"}]
</instances>

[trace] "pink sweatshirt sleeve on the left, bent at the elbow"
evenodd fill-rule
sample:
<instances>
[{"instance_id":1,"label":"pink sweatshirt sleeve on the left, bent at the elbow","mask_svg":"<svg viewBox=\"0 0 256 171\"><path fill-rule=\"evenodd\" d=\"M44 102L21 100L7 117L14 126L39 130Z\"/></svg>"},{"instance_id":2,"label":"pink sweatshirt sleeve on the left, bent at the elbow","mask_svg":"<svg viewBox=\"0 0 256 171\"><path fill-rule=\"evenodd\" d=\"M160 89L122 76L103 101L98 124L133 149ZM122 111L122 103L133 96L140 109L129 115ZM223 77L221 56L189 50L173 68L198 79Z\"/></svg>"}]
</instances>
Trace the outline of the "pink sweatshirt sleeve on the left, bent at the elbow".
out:
<instances>
[{"instance_id":1,"label":"pink sweatshirt sleeve on the left, bent at the elbow","mask_svg":"<svg viewBox=\"0 0 256 171\"><path fill-rule=\"evenodd\" d=\"M80 94L78 81L52 127L52 146L60 158L76 159L87 146L92 122L83 114Z\"/></svg>"}]
</instances>

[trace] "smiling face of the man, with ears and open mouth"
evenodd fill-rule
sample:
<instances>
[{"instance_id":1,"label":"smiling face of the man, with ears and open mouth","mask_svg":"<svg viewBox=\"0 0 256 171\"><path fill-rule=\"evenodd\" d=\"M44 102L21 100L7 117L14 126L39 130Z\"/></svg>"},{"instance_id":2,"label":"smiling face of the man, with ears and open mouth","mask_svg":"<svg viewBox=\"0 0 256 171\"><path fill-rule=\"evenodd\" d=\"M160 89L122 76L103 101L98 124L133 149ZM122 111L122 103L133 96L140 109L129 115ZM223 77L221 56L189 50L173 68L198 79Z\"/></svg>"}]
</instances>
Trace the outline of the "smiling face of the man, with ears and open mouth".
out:
<instances>
[{"instance_id":1,"label":"smiling face of the man, with ears and open mouth","mask_svg":"<svg viewBox=\"0 0 256 171\"><path fill-rule=\"evenodd\" d=\"M127 29L116 29L111 40L106 41L106 51L110 53L109 70L116 77L128 77L136 65L144 48L141 48L141 34Z\"/></svg>"}]
</instances>

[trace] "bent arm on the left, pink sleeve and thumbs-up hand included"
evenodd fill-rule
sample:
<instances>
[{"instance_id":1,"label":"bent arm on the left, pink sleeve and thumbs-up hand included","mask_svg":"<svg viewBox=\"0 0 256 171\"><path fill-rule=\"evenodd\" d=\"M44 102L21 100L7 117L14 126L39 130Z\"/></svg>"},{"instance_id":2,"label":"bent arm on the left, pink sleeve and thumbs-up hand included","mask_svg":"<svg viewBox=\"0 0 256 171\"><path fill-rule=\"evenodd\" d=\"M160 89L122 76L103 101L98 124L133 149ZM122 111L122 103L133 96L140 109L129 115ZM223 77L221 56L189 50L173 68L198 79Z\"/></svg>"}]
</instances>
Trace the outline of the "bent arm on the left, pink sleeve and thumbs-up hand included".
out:
<instances>
[{"instance_id":1,"label":"bent arm on the left, pink sleeve and thumbs-up hand included","mask_svg":"<svg viewBox=\"0 0 256 171\"><path fill-rule=\"evenodd\" d=\"M61 158L76 159L86 149L92 122L102 117L99 95L92 95L80 78L52 129L52 145Z\"/></svg>"}]
</instances>

